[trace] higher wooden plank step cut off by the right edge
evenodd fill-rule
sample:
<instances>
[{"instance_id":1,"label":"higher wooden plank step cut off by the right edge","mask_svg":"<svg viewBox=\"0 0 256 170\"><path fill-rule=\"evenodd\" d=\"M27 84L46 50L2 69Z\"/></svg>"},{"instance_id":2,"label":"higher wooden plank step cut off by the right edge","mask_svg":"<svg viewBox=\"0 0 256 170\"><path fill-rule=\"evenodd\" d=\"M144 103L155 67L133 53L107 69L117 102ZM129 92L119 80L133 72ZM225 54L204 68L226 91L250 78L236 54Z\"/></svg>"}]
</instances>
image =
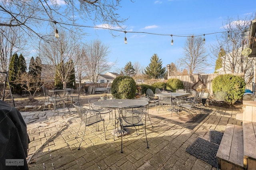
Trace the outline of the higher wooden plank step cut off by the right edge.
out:
<instances>
[{"instance_id":1,"label":"higher wooden plank step cut off by the right edge","mask_svg":"<svg viewBox=\"0 0 256 170\"><path fill-rule=\"evenodd\" d=\"M244 161L248 170L256 170L256 122L243 121Z\"/></svg>"}]
</instances>

